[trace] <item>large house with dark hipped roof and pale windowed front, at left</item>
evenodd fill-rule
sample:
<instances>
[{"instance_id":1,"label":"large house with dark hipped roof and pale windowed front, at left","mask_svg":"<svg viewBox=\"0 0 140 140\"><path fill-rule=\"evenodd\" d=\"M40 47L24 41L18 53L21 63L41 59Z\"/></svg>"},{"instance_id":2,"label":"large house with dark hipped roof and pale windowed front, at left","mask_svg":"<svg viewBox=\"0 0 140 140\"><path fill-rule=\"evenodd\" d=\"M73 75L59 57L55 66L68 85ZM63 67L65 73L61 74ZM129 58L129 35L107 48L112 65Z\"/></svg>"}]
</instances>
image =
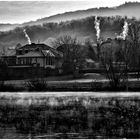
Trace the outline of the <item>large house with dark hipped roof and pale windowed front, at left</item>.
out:
<instances>
[{"instance_id":1,"label":"large house with dark hipped roof and pale windowed front, at left","mask_svg":"<svg viewBox=\"0 0 140 140\"><path fill-rule=\"evenodd\" d=\"M1 57L8 66L28 66L59 68L63 63L63 54L45 44L27 44Z\"/></svg>"}]
</instances>

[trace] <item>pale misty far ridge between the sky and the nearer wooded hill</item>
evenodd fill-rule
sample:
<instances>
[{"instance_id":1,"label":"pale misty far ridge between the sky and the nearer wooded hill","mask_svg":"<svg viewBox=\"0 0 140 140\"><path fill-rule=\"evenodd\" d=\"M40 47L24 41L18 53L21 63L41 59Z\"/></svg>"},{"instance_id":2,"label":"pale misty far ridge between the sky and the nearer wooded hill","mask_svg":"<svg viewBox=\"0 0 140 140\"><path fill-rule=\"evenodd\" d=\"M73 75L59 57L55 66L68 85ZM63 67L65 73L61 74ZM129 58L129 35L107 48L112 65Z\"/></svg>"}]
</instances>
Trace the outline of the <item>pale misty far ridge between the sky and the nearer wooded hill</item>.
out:
<instances>
[{"instance_id":1,"label":"pale misty far ridge between the sky and the nearer wooded hill","mask_svg":"<svg viewBox=\"0 0 140 140\"><path fill-rule=\"evenodd\" d=\"M50 17L38 19L36 21L29 21L23 24L0 24L0 31L13 30L15 27L42 25L50 22L64 22L76 19L82 19L90 16L127 16L129 18L136 17L140 19L140 3L139 2L128 2L118 7L101 7L92 8L87 10L79 10L74 12L66 12L63 14L57 14Z\"/></svg>"}]
</instances>

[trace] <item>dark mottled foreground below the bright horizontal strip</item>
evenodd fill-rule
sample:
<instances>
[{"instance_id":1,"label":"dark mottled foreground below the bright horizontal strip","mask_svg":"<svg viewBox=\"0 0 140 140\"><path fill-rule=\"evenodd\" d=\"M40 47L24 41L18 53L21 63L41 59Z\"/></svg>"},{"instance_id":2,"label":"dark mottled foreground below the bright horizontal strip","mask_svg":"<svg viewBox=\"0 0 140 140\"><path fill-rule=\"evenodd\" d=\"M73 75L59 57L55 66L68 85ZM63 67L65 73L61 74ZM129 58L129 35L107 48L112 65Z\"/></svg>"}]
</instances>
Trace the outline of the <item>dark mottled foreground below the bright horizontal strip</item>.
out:
<instances>
[{"instance_id":1,"label":"dark mottled foreground below the bright horizontal strip","mask_svg":"<svg viewBox=\"0 0 140 140\"><path fill-rule=\"evenodd\" d=\"M140 138L139 108L136 97L2 95L0 138Z\"/></svg>"}]
</instances>

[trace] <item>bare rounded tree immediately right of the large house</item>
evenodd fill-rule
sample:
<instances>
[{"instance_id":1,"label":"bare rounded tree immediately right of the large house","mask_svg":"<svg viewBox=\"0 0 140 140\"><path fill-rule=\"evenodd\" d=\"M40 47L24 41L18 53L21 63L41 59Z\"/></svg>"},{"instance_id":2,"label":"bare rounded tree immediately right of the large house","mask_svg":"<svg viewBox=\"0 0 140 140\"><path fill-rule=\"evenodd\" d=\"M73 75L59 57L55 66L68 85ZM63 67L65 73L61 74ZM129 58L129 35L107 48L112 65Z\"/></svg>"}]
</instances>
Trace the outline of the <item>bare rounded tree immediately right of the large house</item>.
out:
<instances>
[{"instance_id":1,"label":"bare rounded tree immediately right of the large house","mask_svg":"<svg viewBox=\"0 0 140 140\"><path fill-rule=\"evenodd\" d=\"M79 69L84 64L83 50L76 38L64 35L57 38L53 45L58 51L63 53L63 72L65 74L73 73L76 77Z\"/></svg>"}]
</instances>

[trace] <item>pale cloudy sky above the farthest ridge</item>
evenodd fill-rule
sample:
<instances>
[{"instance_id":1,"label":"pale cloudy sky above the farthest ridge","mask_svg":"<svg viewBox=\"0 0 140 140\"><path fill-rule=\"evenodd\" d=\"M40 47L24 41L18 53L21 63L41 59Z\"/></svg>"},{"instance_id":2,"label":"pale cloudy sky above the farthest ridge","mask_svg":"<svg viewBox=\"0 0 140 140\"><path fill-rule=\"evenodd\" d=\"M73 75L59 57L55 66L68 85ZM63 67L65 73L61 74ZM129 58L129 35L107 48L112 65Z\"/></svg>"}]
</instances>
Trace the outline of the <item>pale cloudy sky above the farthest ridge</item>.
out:
<instances>
[{"instance_id":1,"label":"pale cloudy sky above the farthest ridge","mask_svg":"<svg viewBox=\"0 0 140 140\"><path fill-rule=\"evenodd\" d=\"M140 0L44 0L0 1L0 23L23 23L69 11L114 7Z\"/></svg>"}]
</instances>

